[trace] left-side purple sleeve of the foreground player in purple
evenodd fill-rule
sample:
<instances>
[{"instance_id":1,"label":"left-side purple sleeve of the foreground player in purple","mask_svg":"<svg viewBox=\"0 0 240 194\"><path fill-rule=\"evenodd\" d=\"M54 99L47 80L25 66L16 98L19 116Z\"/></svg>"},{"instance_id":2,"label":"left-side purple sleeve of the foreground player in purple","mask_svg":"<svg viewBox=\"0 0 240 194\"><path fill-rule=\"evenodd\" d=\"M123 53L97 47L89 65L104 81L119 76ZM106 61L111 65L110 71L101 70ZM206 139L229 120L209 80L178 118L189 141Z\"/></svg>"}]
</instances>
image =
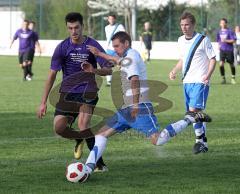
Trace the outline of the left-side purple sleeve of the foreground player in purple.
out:
<instances>
[{"instance_id":1,"label":"left-side purple sleeve of the foreground player in purple","mask_svg":"<svg viewBox=\"0 0 240 194\"><path fill-rule=\"evenodd\" d=\"M62 69L63 58L61 53L61 45L58 45L54 50L51 60L51 70L60 71Z\"/></svg>"}]
</instances>

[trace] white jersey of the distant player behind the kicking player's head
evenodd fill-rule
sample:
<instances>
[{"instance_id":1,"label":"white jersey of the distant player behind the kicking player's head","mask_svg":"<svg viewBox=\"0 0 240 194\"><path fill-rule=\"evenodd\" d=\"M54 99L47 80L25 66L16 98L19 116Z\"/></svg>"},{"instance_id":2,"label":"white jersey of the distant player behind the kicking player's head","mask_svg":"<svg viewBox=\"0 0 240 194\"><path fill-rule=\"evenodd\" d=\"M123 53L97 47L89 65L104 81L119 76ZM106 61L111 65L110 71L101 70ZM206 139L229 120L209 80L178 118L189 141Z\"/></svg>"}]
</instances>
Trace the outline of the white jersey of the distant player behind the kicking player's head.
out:
<instances>
[{"instance_id":1,"label":"white jersey of the distant player behind the kicking player's head","mask_svg":"<svg viewBox=\"0 0 240 194\"><path fill-rule=\"evenodd\" d=\"M117 32L124 31L125 28L123 27L122 24L115 23L114 25L107 25L105 26L105 34L106 34L106 39L107 39L107 49L114 50L112 47L112 41L111 38L114 34Z\"/></svg>"}]
</instances>

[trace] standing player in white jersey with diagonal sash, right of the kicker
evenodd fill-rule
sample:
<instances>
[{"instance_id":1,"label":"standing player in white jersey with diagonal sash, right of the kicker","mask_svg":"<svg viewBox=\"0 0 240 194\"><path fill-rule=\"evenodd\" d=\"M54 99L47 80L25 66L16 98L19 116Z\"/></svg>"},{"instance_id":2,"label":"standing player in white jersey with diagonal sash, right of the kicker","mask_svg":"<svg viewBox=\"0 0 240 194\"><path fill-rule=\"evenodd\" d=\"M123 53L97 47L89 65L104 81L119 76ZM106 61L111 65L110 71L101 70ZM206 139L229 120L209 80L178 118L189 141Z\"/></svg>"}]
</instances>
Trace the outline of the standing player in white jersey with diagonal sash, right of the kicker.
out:
<instances>
[{"instance_id":1,"label":"standing player in white jersey with diagonal sash, right of the kicker","mask_svg":"<svg viewBox=\"0 0 240 194\"><path fill-rule=\"evenodd\" d=\"M182 70L186 109L190 112L201 112L206 106L209 81L216 59L210 40L195 32L195 23L195 17L189 12L184 12L180 17L180 27L183 32L178 39L180 60L170 72L169 78L174 80L176 73ZM200 38L203 39L198 42ZM193 153L207 152L205 123L194 123L193 128L196 135Z\"/></svg>"}]
</instances>

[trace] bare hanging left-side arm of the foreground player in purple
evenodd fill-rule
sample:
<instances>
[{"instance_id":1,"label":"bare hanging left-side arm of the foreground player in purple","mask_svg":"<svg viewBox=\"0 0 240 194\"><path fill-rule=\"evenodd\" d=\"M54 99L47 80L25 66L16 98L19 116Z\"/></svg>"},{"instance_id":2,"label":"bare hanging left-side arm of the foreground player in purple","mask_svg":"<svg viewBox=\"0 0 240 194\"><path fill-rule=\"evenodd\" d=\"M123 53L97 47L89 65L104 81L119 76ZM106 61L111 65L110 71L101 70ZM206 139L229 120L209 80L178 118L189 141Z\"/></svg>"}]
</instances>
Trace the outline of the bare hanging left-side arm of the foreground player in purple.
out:
<instances>
[{"instance_id":1,"label":"bare hanging left-side arm of the foreground player in purple","mask_svg":"<svg viewBox=\"0 0 240 194\"><path fill-rule=\"evenodd\" d=\"M48 99L48 95L52 89L52 86L54 84L54 81L56 79L56 75L57 75L57 71L54 71L54 70L49 71L48 78L45 83L45 87L44 87L44 91L43 91L41 104L37 111L37 116L39 119L42 119L43 116L45 116L45 114L47 112L47 99Z\"/></svg>"}]
</instances>

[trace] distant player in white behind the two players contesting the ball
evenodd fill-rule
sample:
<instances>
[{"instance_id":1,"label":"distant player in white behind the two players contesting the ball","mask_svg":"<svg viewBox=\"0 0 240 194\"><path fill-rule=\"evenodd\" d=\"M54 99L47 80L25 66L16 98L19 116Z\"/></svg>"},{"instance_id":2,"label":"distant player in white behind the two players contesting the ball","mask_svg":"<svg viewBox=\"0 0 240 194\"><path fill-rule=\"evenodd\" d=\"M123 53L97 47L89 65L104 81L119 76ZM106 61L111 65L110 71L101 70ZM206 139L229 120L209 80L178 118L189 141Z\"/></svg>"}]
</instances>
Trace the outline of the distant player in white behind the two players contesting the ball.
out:
<instances>
[{"instance_id":1,"label":"distant player in white behind the two players contesting the ball","mask_svg":"<svg viewBox=\"0 0 240 194\"><path fill-rule=\"evenodd\" d=\"M120 32L120 31L125 31L125 28L122 24L119 24L116 22L116 15L115 14L109 14L108 15L108 25L105 26L105 34L106 34L106 39L107 39L107 49L106 49L106 53L108 55L116 55L113 47L112 47L112 37L115 33ZM107 86L111 85L111 81L112 81L112 75L107 75L106 76L107 79Z\"/></svg>"}]
</instances>

